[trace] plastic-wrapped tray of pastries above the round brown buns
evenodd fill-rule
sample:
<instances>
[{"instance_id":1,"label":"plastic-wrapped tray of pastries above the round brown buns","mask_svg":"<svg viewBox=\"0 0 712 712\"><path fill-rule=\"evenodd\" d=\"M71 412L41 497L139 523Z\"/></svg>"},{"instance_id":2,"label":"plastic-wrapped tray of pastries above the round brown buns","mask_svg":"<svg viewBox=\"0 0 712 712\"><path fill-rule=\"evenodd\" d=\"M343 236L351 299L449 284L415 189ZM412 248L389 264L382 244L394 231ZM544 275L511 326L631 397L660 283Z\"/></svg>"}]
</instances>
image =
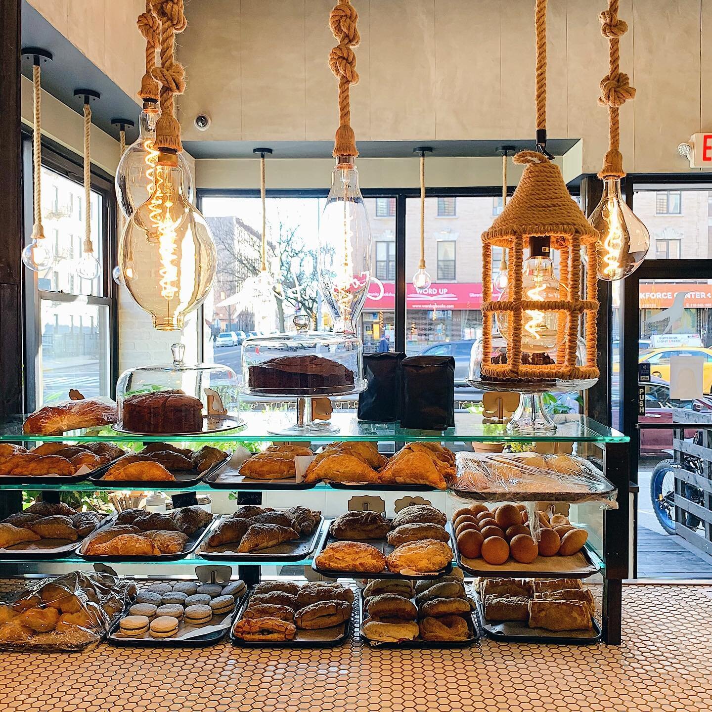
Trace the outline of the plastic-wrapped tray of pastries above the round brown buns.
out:
<instances>
[{"instance_id":1,"label":"plastic-wrapped tray of pastries above the round brown buns","mask_svg":"<svg viewBox=\"0 0 712 712\"><path fill-rule=\"evenodd\" d=\"M448 488L464 500L600 502L602 509L618 508L612 483L590 462L572 455L459 452Z\"/></svg>"}]
</instances>

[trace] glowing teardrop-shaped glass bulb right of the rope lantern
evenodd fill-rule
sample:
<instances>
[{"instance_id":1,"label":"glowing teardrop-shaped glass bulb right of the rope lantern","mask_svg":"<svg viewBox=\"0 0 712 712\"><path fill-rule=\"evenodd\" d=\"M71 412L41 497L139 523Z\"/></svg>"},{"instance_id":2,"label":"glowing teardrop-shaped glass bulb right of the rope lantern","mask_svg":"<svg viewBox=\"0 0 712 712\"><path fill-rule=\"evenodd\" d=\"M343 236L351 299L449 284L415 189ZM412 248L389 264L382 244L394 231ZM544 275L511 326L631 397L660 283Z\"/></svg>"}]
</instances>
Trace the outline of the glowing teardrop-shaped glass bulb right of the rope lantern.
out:
<instances>
[{"instance_id":1,"label":"glowing teardrop-shaped glass bulb right of the rope lantern","mask_svg":"<svg viewBox=\"0 0 712 712\"><path fill-rule=\"evenodd\" d=\"M604 179L603 196L589 221L601 234L596 243L598 278L612 282L636 271L650 248L650 234L624 201L620 179Z\"/></svg>"}]
</instances>

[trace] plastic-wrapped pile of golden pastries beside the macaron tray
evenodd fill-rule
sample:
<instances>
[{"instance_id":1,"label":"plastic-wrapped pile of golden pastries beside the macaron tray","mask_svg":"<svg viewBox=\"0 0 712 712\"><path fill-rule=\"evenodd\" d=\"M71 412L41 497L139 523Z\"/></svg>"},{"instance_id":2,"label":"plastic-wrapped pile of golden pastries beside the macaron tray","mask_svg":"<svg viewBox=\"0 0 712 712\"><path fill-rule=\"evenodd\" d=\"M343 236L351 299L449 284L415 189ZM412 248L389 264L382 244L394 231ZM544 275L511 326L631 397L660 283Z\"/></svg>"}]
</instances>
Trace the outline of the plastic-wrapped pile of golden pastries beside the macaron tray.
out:
<instances>
[{"instance_id":1,"label":"plastic-wrapped pile of golden pastries beside the macaron tray","mask_svg":"<svg viewBox=\"0 0 712 712\"><path fill-rule=\"evenodd\" d=\"M105 636L135 595L135 584L74 571L42 579L0 604L0 649L80 651Z\"/></svg>"}]
</instances>

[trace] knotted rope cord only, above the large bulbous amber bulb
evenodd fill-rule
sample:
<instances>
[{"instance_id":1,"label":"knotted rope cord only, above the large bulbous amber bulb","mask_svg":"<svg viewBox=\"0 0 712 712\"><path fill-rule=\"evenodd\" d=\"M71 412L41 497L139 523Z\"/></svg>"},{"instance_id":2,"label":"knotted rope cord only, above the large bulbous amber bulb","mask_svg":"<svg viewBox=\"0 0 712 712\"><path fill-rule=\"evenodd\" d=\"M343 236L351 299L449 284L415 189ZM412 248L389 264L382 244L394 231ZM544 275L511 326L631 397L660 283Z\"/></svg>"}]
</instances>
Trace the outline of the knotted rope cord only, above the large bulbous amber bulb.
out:
<instances>
[{"instance_id":1,"label":"knotted rope cord only, above the large bulbous amber bulb","mask_svg":"<svg viewBox=\"0 0 712 712\"><path fill-rule=\"evenodd\" d=\"M153 0L153 10L161 25L161 66L154 67L152 77L161 85L161 117L156 122L157 150L180 152L180 124L174 115L174 95L185 91L185 69L175 61L175 35L187 26L183 0Z\"/></svg>"}]
</instances>

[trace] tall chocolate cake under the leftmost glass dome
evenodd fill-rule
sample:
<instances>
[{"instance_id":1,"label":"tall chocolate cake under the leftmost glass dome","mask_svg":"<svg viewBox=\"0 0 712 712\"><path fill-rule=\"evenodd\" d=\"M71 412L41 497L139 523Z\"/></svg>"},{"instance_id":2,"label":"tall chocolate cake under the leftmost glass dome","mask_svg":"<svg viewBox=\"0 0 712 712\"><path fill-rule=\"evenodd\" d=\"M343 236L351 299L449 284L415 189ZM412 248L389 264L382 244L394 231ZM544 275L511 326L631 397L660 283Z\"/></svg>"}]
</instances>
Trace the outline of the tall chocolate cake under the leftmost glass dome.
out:
<instances>
[{"instance_id":1,"label":"tall chocolate cake under the leftmost glass dome","mask_svg":"<svg viewBox=\"0 0 712 712\"><path fill-rule=\"evenodd\" d=\"M123 429L135 433L199 433L203 404L182 391L155 391L127 397Z\"/></svg>"}]
</instances>

